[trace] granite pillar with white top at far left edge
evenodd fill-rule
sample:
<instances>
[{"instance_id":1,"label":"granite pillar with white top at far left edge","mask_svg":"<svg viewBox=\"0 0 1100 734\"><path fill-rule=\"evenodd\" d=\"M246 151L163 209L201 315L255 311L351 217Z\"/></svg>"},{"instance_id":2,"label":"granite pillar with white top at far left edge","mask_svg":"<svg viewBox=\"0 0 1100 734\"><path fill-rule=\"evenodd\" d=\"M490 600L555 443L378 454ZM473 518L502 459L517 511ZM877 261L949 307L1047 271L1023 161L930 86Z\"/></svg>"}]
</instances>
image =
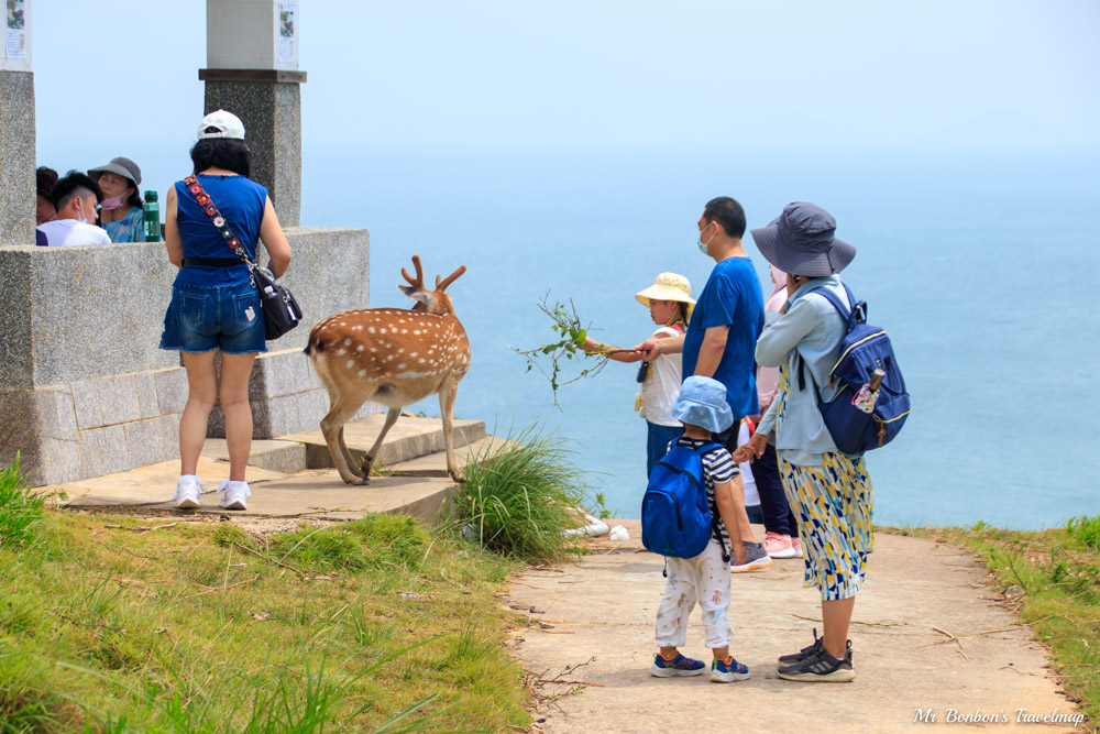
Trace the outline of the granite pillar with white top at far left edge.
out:
<instances>
[{"instance_id":1,"label":"granite pillar with white top at far left edge","mask_svg":"<svg viewBox=\"0 0 1100 734\"><path fill-rule=\"evenodd\" d=\"M0 50L0 244L34 244L31 0L4 4Z\"/></svg>"}]
</instances>

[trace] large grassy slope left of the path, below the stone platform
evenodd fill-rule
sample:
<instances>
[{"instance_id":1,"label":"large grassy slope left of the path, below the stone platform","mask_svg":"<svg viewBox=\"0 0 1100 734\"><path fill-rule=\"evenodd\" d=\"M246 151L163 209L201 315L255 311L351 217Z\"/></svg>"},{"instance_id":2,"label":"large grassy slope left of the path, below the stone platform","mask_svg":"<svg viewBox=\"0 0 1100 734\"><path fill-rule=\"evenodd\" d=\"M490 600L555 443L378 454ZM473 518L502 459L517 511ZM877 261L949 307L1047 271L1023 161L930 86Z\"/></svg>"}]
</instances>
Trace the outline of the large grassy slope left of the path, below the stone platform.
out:
<instances>
[{"instance_id":1,"label":"large grassy slope left of the path, below the stone platform","mask_svg":"<svg viewBox=\"0 0 1100 734\"><path fill-rule=\"evenodd\" d=\"M528 723L493 596L512 561L388 515L107 527L167 524L46 513L0 547L0 734Z\"/></svg>"}]
</instances>

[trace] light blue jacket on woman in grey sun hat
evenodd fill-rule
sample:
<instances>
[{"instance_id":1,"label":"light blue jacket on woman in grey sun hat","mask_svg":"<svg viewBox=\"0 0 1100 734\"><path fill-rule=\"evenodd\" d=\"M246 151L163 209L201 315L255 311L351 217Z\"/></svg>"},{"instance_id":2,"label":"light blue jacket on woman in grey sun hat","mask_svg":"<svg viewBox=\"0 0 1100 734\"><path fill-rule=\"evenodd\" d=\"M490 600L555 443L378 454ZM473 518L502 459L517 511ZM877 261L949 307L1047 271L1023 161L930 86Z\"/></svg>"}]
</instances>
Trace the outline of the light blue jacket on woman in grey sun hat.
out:
<instances>
[{"instance_id":1,"label":"light blue jacket on woman in grey sun hat","mask_svg":"<svg viewBox=\"0 0 1100 734\"><path fill-rule=\"evenodd\" d=\"M847 324L836 308L820 294L809 294L825 286L837 294L840 303L848 296L838 275L817 277L794 292L787 302L787 313L779 314L763 327L757 340L757 363L763 366L787 364L788 384L780 388L771 407L757 429L771 434L769 439L784 461L799 467L821 467L822 454L836 451L814 397L814 383L823 401L833 399L839 385L829 386L828 376L840 357L840 340ZM805 390L799 390L799 371L805 371ZM810 380L811 374L813 381ZM778 410L785 393L782 420Z\"/></svg>"}]
</instances>

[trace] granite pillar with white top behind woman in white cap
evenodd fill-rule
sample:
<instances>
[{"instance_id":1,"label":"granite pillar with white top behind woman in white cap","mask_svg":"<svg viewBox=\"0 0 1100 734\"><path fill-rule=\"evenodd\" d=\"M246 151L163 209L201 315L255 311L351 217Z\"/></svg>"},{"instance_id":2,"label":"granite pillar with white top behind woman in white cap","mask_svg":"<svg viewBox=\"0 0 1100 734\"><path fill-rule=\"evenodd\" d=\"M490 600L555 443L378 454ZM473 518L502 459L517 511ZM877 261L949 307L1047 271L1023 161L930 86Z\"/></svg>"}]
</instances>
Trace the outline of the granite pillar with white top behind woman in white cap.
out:
<instances>
[{"instance_id":1,"label":"granite pillar with white top behind woman in white cap","mask_svg":"<svg viewBox=\"0 0 1100 734\"><path fill-rule=\"evenodd\" d=\"M284 227L301 213L301 97L297 0L207 0L206 112L244 122L252 178L267 187Z\"/></svg>"}]
</instances>

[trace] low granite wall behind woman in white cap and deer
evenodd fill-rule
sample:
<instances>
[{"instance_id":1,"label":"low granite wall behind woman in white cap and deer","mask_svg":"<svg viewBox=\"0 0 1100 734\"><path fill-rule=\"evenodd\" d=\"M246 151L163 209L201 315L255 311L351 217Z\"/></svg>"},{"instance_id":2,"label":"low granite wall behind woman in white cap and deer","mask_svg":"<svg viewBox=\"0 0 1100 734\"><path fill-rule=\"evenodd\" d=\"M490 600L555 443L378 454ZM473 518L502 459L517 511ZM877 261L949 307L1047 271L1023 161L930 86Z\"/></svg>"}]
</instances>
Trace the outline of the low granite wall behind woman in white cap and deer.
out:
<instances>
[{"instance_id":1,"label":"low granite wall behind woman in white cap and deer","mask_svg":"<svg viewBox=\"0 0 1100 734\"><path fill-rule=\"evenodd\" d=\"M328 397L301 353L309 328L370 299L365 230L287 237L284 282L306 318L256 360L256 438L317 427ZM175 273L163 243L0 247L0 464L20 451L36 483L54 484L178 456L187 380L179 354L157 348ZM216 408L211 436L221 420Z\"/></svg>"}]
</instances>

